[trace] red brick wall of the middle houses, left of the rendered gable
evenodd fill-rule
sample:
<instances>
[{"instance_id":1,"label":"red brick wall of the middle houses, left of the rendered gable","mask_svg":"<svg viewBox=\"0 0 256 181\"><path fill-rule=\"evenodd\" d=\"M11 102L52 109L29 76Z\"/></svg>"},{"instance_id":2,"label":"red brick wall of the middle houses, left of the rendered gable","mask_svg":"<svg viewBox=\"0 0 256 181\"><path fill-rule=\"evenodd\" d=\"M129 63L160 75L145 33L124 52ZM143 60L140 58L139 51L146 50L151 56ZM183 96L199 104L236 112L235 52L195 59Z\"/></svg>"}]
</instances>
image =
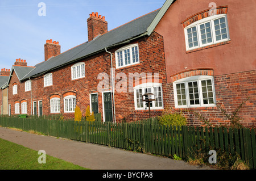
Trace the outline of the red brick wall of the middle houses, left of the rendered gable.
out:
<instances>
[{"instance_id":1,"label":"red brick wall of the middle houses, left of the rendered gable","mask_svg":"<svg viewBox=\"0 0 256 181\"><path fill-rule=\"evenodd\" d=\"M152 33L150 37L143 37L138 41L131 43L138 43L139 45L139 61L137 65L127 66L126 68L115 69L115 49L109 49L113 53L113 68L115 69L115 75L122 72L129 77L129 73L159 73L159 77L163 83L163 94L165 95L167 90L166 87L166 71L164 61L164 47L163 38L157 33ZM100 53L97 56L86 58L81 62L85 62L85 78L71 79L71 65L52 71L53 85L44 87L43 75L32 79L32 102L43 100L43 114L48 115L51 113L50 110L50 97L53 94L57 94L60 97L60 110L65 117L74 117L74 113L64 113L64 102L63 98L67 92L75 92L77 106L80 106L82 116L85 116L86 107L90 104L89 94L97 91L98 83L102 80L97 79L98 74L107 73L109 75L109 89L112 89L110 84L110 54ZM15 76L12 78L14 82ZM119 80L115 80L115 85ZM10 84L11 85L11 84ZM129 83L127 82L127 86ZM22 85L20 85L22 86ZM19 90L19 88L18 88ZM105 90L104 90L105 91ZM12 92L12 89L10 89ZM19 93L20 94L20 93ZM24 96L27 96L24 94ZM22 96L20 96L22 97ZM163 96L164 102L167 101L166 96ZM18 98L15 98L18 99ZM19 98L22 99L22 98ZM28 102L30 98L26 97ZM31 103L27 103L30 105ZM125 108L125 109L124 109ZM28 114L31 113L28 106ZM102 94L98 92L98 111L102 113ZM148 111L135 111L134 108L134 93L129 92L127 88L126 93L115 92L115 112L117 121L121 121L124 117L127 121L140 120L148 117ZM161 110L151 110L151 115L159 115Z\"/></svg>"}]
</instances>

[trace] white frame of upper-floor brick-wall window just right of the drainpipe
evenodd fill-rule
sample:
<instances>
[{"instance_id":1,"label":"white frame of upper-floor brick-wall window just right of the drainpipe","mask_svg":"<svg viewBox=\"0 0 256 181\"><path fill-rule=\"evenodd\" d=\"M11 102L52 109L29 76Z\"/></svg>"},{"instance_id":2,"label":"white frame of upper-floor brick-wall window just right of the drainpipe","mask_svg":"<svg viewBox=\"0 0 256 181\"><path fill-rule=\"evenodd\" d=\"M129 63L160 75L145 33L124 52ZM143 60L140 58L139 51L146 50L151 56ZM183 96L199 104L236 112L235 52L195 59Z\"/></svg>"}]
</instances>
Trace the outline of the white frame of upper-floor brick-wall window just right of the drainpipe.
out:
<instances>
[{"instance_id":1,"label":"white frame of upper-floor brick-wall window just right of the drainpipe","mask_svg":"<svg viewBox=\"0 0 256 181\"><path fill-rule=\"evenodd\" d=\"M133 51L132 48L137 47L137 51L138 51L138 62L133 62ZM126 64L125 65L125 50L129 49L129 53L130 53L130 64ZM122 62L123 65L118 65L118 53L121 52L122 53ZM135 58L136 59L136 58ZM123 68L126 66L130 66L130 65L134 65L134 64L139 64L139 45L138 44L130 44L130 45L126 45L125 47L122 47L118 50L115 51L115 65L116 68Z\"/></svg>"}]
</instances>

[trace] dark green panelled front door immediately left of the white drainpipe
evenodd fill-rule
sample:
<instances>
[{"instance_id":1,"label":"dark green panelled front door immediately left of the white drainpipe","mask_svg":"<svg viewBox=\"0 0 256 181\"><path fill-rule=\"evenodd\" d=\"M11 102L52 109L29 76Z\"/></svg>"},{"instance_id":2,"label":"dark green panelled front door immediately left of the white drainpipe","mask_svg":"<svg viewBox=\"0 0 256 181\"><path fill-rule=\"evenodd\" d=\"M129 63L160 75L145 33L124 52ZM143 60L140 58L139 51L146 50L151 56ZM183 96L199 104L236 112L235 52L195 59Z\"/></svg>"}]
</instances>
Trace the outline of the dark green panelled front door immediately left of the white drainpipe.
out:
<instances>
[{"instance_id":1,"label":"dark green panelled front door immediately left of the white drainpipe","mask_svg":"<svg viewBox=\"0 0 256 181\"><path fill-rule=\"evenodd\" d=\"M111 92L105 92L103 93L104 98L104 116L105 121L113 121L113 115L112 115L112 96Z\"/></svg>"}]
</instances>

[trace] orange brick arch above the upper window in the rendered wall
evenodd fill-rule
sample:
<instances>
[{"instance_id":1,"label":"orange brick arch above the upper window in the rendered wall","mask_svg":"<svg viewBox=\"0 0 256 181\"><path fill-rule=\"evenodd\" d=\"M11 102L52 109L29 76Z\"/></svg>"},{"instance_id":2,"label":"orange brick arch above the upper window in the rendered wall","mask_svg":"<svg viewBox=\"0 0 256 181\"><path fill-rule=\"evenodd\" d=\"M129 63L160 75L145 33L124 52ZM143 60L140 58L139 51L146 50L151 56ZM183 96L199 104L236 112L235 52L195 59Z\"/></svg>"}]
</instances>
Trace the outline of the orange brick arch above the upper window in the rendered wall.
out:
<instances>
[{"instance_id":1,"label":"orange brick arch above the upper window in the rendered wall","mask_svg":"<svg viewBox=\"0 0 256 181\"><path fill-rule=\"evenodd\" d=\"M190 16L189 18L185 19L183 22L181 22L183 28L189 26L189 24L192 24L200 19L207 18L209 15L209 10L204 10L201 12L198 12L195 15ZM216 15L217 14L226 14L228 12L228 6L218 6L216 7Z\"/></svg>"}]
</instances>

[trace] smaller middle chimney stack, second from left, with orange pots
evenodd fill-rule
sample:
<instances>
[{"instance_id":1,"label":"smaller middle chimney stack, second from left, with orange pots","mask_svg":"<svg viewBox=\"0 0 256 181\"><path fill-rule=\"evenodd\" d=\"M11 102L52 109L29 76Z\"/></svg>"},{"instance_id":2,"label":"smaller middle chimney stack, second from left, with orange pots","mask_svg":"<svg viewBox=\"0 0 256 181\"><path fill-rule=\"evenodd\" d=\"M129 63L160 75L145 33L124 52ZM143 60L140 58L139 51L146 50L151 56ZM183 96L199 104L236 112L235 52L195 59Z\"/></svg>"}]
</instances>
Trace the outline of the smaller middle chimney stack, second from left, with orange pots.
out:
<instances>
[{"instance_id":1,"label":"smaller middle chimney stack, second from left, with orange pots","mask_svg":"<svg viewBox=\"0 0 256 181\"><path fill-rule=\"evenodd\" d=\"M46 44L44 44L44 61L58 54L60 54L59 41L46 40Z\"/></svg>"}]
</instances>

